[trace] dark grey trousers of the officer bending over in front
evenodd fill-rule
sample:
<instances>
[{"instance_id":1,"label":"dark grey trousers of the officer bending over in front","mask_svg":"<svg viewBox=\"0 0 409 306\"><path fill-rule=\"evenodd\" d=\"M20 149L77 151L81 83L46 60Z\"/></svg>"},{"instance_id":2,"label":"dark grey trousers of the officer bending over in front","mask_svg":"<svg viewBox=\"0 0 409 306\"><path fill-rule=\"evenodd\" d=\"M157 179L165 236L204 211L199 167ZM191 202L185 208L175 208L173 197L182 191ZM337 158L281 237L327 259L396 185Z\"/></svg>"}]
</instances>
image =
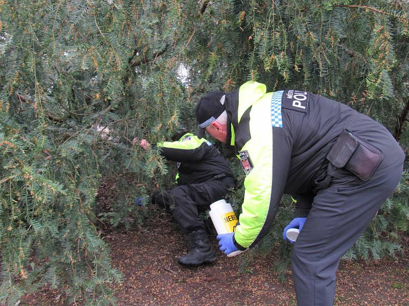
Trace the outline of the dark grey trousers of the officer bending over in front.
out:
<instances>
[{"instance_id":1,"label":"dark grey trousers of the officer bending over in front","mask_svg":"<svg viewBox=\"0 0 409 306\"><path fill-rule=\"evenodd\" d=\"M376 142L379 138L376 137L371 141ZM292 251L298 305L333 305L335 271L340 258L366 230L399 183L404 160L402 150L392 136L378 142L384 159L368 181L328 165L328 186L314 197Z\"/></svg>"}]
</instances>

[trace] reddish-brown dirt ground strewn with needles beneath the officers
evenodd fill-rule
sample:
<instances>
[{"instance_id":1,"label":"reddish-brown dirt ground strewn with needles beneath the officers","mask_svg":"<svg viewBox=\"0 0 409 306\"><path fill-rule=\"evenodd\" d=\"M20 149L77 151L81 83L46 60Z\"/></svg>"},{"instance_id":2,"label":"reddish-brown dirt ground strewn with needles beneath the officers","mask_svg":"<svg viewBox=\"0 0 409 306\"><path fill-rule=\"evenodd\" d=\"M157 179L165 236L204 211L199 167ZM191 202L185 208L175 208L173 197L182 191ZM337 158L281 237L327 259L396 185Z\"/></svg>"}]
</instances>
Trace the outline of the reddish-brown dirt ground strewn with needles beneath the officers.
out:
<instances>
[{"instance_id":1,"label":"reddish-brown dirt ground strewn with needles beneath the officers","mask_svg":"<svg viewBox=\"0 0 409 306\"><path fill-rule=\"evenodd\" d=\"M184 236L171 218L158 213L141 228L104 235L113 266L124 274L115 288L119 305L296 305L291 271L279 281L272 267L277 254L258 255L243 272L240 256L217 252L213 264L177 263L187 251ZM217 241L211 237L215 249ZM407 243L405 244L407 247ZM342 262L337 272L335 305L409 305L409 257L377 262ZM63 304L63 295L40 292L20 305Z\"/></svg>"}]
</instances>

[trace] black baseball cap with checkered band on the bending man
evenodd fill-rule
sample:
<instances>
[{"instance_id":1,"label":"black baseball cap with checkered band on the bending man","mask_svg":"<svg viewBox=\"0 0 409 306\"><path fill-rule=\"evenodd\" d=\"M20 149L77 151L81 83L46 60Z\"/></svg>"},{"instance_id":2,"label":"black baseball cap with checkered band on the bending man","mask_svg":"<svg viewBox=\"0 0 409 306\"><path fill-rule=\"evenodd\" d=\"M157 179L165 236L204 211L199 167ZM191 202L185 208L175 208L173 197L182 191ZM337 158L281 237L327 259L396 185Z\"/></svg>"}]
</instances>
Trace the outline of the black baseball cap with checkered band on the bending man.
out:
<instances>
[{"instance_id":1,"label":"black baseball cap with checkered band on the bending man","mask_svg":"<svg viewBox=\"0 0 409 306\"><path fill-rule=\"evenodd\" d=\"M196 120L199 123L197 137L202 138L205 134L206 126L210 125L224 112L224 105L220 103L223 91L212 91L202 97L196 104Z\"/></svg>"}]
</instances>

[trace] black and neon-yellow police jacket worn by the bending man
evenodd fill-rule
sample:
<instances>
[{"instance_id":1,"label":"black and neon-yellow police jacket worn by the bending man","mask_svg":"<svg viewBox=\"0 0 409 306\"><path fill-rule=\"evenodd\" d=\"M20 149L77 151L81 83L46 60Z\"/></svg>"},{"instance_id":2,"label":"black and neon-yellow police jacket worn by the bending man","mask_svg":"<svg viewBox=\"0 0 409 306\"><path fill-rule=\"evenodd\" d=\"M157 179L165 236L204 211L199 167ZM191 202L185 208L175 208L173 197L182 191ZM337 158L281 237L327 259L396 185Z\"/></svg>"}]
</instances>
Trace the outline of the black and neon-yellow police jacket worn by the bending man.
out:
<instances>
[{"instance_id":1,"label":"black and neon-yellow police jacket worn by the bending man","mask_svg":"<svg viewBox=\"0 0 409 306\"><path fill-rule=\"evenodd\" d=\"M268 233L284 192L311 189L330 145L356 111L307 92L267 93L256 82L226 94L225 108L232 126L228 144L246 173L234 240L247 248Z\"/></svg>"}]
</instances>

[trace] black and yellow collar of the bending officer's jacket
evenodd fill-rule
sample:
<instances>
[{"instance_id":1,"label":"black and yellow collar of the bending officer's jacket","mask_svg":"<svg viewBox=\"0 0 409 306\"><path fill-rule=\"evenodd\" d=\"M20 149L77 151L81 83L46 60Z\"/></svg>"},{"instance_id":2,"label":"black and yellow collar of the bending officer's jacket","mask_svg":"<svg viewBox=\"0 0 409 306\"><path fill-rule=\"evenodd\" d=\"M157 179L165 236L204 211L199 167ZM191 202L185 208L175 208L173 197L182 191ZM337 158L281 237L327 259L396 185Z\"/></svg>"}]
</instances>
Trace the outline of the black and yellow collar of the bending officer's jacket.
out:
<instances>
[{"instance_id":1,"label":"black and yellow collar of the bending officer's jacket","mask_svg":"<svg viewBox=\"0 0 409 306\"><path fill-rule=\"evenodd\" d=\"M225 157L238 155L240 148L236 144L235 131L238 130L240 119L245 111L253 106L266 91L267 89L264 84L249 81L238 89L226 93L224 108L228 117L227 125L230 126L230 129L228 129L226 142L223 146Z\"/></svg>"}]
</instances>

